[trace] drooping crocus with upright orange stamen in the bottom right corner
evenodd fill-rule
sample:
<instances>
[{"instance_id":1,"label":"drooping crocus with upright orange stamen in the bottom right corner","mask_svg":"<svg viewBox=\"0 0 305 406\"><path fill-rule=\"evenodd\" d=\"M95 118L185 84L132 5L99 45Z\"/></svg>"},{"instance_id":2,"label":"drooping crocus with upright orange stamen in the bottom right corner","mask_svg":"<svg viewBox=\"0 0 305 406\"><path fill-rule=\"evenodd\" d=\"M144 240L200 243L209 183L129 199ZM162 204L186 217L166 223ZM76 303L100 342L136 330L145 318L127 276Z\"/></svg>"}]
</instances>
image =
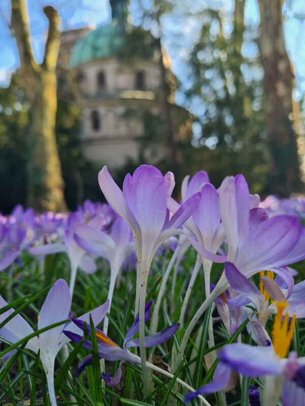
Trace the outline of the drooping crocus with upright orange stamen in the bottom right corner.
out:
<instances>
[{"instance_id":1,"label":"drooping crocus with upright orange stamen in the bottom right corner","mask_svg":"<svg viewBox=\"0 0 305 406\"><path fill-rule=\"evenodd\" d=\"M283 311L287 303L277 302L278 313L272 329L272 344L264 347L252 347L235 343L227 345L219 354L220 362L215 370L212 382L202 386L196 392L188 393L185 402L198 394L214 393L228 383L231 368L238 373L255 377L266 376L262 393L264 404L276 406L282 391L284 406L305 404L305 357L297 358L294 351L285 358L293 337L296 317L288 326L288 313L282 322ZM284 385L283 385L284 382ZM297 391L298 397L295 397ZM296 400L291 403L292 397Z\"/></svg>"}]
</instances>

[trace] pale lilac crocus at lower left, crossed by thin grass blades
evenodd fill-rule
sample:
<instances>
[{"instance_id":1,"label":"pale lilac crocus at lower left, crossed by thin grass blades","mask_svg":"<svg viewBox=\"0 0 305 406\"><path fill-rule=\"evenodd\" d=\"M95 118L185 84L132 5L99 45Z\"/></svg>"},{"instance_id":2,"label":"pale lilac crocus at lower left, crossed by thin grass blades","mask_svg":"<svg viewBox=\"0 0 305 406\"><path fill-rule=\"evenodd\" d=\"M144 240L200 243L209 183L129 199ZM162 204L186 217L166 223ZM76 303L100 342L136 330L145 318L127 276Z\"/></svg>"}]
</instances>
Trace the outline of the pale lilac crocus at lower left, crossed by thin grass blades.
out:
<instances>
[{"instance_id":1,"label":"pale lilac crocus at lower left, crossed by thin grass blades","mask_svg":"<svg viewBox=\"0 0 305 406\"><path fill-rule=\"evenodd\" d=\"M0 307L7 306L7 302L0 296ZM108 301L102 306L88 312L78 318L89 322L89 316L91 315L95 325L98 325L105 317L108 310ZM71 295L69 287L66 281L58 279L57 282L51 287L49 293L41 308L38 318L38 329L47 327L56 322L69 319L71 310ZM14 312L14 309L10 309L7 312L0 315L0 322L3 322L10 314ZM63 334L63 329L75 333L81 332L75 323L69 322L68 325L62 324L57 327L51 328L42 332L39 336L33 337L26 344L26 348L36 353L40 350L40 359L44 367L49 396L52 406L56 405L55 393L54 393L54 361L55 357L60 349L64 347L70 340L69 337ZM33 333L33 328L23 319L20 314L14 316L4 327L0 329L0 337L11 343L16 343L22 340L27 335Z\"/></svg>"}]
</instances>

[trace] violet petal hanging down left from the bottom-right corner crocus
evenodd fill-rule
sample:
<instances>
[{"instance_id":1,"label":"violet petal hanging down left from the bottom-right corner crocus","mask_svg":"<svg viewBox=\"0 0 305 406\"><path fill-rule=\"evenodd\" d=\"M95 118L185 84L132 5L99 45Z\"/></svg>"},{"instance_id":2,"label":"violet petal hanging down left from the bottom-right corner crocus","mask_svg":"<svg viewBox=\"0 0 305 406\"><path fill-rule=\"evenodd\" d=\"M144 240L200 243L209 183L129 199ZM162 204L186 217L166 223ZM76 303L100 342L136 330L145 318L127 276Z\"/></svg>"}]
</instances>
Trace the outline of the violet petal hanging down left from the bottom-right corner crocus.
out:
<instances>
[{"instance_id":1,"label":"violet petal hanging down left from the bottom-right corner crocus","mask_svg":"<svg viewBox=\"0 0 305 406\"><path fill-rule=\"evenodd\" d=\"M230 375L230 366L223 362L219 362L215 369L213 380L210 383L197 389L195 392L188 393L185 398L185 403L188 403L190 400L194 399L194 397L198 395L215 393L225 388L229 382Z\"/></svg>"}]
</instances>

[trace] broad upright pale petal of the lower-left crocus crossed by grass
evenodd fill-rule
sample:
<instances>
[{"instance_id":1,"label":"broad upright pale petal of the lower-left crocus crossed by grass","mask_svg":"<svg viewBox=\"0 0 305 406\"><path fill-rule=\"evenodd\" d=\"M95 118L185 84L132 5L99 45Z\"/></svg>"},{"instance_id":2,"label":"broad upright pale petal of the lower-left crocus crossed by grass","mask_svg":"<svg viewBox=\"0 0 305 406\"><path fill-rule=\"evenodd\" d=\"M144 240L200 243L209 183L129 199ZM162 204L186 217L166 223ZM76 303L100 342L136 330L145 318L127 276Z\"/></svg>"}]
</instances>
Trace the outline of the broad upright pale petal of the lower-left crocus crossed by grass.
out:
<instances>
[{"instance_id":1,"label":"broad upright pale petal of the lower-left crocus crossed by grass","mask_svg":"<svg viewBox=\"0 0 305 406\"><path fill-rule=\"evenodd\" d=\"M69 286L64 279L58 279L49 290L42 305L38 319L38 329L67 319L69 317L70 309L71 295ZM54 355L57 354L60 349L58 346L58 343L60 342L59 336L64 327L65 325L62 324L39 334L39 341L44 351L49 351L50 353L54 351Z\"/></svg>"}]
</instances>

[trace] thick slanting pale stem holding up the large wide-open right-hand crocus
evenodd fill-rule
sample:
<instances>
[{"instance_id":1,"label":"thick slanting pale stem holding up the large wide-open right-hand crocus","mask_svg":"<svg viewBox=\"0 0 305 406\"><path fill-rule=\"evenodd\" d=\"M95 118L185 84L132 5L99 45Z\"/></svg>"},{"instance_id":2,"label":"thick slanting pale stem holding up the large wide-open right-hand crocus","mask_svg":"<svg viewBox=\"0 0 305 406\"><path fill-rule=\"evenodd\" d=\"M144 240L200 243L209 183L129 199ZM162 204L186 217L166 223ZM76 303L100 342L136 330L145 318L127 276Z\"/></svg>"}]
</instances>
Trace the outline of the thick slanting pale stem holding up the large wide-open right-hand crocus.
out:
<instances>
[{"instance_id":1,"label":"thick slanting pale stem holding up the large wide-open right-hand crocus","mask_svg":"<svg viewBox=\"0 0 305 406\"><path fill-rule=\"evenodd\" d=\"M206 311L206 309L209 307L209 305L219 296L221 295L227 288L228 288L228 282L225 276L225 273L223 272L222 276L220 277L220 280L218 281L215 289L212 291L212 293L204 300L204 302L201 304L200 308L197 310L195 315L193 316L192 320L190 321L190 324L188 325L183 339L181 341L181 345L179 348L177 360L176 360L176 367L180 364L182 361L189 337L191 332L193 331L193 328L195 327L197 321L200 319L200 317L203 315L203 313Z\"/></svg>"}]
</instances>

